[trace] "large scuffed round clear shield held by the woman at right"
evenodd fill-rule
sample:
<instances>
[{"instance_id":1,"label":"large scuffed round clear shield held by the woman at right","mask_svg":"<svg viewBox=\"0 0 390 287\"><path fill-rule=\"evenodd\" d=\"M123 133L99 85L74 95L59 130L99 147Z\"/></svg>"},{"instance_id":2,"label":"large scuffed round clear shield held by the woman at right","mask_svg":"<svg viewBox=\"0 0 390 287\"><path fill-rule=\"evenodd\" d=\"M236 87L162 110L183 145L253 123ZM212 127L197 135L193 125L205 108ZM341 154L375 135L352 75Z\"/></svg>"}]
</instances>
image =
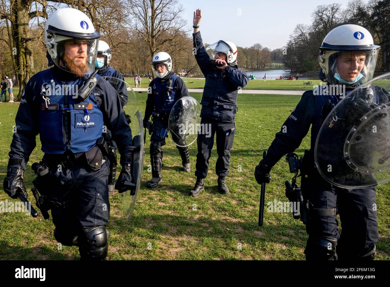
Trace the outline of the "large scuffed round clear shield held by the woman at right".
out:
<instances>
[{"instance_id":1,"label":"large scuffed round clear shield held by the woman at right","mask_svg":"<svg viewBox=\"0 0 390 287\"><path fill-rule=\"evenodd\" d=\"M333 185L360 189L390 181L390 73L348 93L316 140L319 173Z\"/></svg>"}]
</instances>

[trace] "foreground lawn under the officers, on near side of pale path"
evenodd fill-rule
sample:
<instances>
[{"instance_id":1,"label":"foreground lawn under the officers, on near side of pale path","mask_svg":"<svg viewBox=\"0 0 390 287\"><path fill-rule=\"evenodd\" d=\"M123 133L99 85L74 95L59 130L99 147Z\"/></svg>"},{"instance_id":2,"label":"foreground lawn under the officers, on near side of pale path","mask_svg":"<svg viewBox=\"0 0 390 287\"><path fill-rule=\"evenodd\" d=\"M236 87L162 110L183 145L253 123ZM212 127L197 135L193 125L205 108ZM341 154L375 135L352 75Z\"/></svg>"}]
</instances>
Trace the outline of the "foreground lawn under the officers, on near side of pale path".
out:
<instances>
[{"instance_id":1,"label":"foreground lawn under the officers, on near side of pale path","mask_svg":"<svg viewBox=\"0 0 390 287\"><path fill-rule=\"evenodd\" d=\"M138 94L138 109L142 113L146 95ZM192 93L191 96L200 101L201 94ZM214 149L205 191L198 198L188 196L195 183L197 147L196 144L190 146L192 169L191 173L184 173L181 171L179 153L170 139L163 147L163 184L157 189L146 189L146 183L151 178L151 172L147 171L150 164L150 136L147 135L142 189L129 222L123 219L122 195L115 193L110 198L108 259L303 260L307 234L305 226L294 220L292 214L265 210L264 226L257 226L260 185L254 180L254 167L261 159L262 150L268 148L299 99L300 96L239 95L236 134L227 178L230 193L227 195L219 194L216 189ZM18 106L19 103L0 105L1 182L6 175L12 126ZM39 140L37 142L24 176L28 190L34 178L31 164L39 161L43 155ZM303 140L296 153L303 155L307 148L309 137ZM265 202L275 199L286 201L284 181L291 180L291 174L285 160L281 159L271 173L272 181L266 186ZM30 191L29 198L32 198ZM0 201L5 200L10 198L0 188ZM380 235L377 258L389 260L388 185L378 187L377 206ZM79 259L77 247L63 246L62 250L57 249L53 229L51 220L44 220L41 215L33 218L20 213L0 214L0 260Z\"/></svg>"}]
</instances>

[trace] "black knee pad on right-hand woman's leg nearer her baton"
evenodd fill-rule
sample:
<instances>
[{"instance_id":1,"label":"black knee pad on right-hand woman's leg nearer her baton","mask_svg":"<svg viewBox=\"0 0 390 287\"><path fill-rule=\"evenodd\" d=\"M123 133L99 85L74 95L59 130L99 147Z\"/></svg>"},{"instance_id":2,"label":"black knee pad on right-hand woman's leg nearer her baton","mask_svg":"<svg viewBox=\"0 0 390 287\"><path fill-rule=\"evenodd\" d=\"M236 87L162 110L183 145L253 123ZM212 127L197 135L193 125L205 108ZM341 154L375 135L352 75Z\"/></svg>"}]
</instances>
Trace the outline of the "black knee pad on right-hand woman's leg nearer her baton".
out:
<instances>
[{"instance_id":1,"label":"black knee pad on right-hand woman's leg nearer her baton","mask_svg":"<svg viewBox=\"0 0 390 287\"><path fill-rule=\"evenodd\" d=\"M337 239L309 235L305 255L306 260L337 260Z\"/></svg>"}]
</instances>

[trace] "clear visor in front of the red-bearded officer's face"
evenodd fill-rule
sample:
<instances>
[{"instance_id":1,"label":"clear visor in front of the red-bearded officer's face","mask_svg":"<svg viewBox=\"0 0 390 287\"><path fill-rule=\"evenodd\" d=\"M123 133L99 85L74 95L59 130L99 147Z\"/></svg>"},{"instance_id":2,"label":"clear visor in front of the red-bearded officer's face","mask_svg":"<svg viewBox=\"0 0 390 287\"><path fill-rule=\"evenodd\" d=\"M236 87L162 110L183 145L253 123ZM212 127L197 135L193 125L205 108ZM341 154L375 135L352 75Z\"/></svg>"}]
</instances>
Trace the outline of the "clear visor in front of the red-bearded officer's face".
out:
<instances>
[{"instance_id":1,"label":"clear visor in front of the red-bearded officer's face","mask_svg":"<svg viewBox=\"0 0 390 287\"><path fill-rule=\"evenodd\" d=\"M95 70L99 39L76 39L48 35L48 45L55 41L56 51L48 50L54 64L77 75L91 74Z\"/></svg>"}]
</instances>

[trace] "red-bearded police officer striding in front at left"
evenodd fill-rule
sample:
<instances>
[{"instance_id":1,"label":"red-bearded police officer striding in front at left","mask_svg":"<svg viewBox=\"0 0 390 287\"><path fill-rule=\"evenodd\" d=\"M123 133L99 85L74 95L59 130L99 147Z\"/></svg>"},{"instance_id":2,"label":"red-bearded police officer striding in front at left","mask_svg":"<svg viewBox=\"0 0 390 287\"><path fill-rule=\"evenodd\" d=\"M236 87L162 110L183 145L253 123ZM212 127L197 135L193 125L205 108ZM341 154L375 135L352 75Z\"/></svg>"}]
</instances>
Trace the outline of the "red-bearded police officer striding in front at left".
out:
<instances>
[{"instance_id":1,"label":"red-bearded police officer striding in front at left","mask_svg":"<svg viewBox=\"0 0 390 287\"><path fill-rule=\"evenodd\" d=\"M94 71L98 38L79 10L62 8L49 16L45 41L55 66L35 74L25 87L4 179L9 196L27 198L23 173L39 134L44 152L40 164L48 173L37 189L51 209L54 237L78 246L80 257L91 260L105 259L108 250L110 160L104 146L97 145L103 126L112 130L121 153L119 192L129 189L132 158L131 131L115 89L99 76L87 84L92 89L81 88Z\"/></svg>"}]
</instances>

